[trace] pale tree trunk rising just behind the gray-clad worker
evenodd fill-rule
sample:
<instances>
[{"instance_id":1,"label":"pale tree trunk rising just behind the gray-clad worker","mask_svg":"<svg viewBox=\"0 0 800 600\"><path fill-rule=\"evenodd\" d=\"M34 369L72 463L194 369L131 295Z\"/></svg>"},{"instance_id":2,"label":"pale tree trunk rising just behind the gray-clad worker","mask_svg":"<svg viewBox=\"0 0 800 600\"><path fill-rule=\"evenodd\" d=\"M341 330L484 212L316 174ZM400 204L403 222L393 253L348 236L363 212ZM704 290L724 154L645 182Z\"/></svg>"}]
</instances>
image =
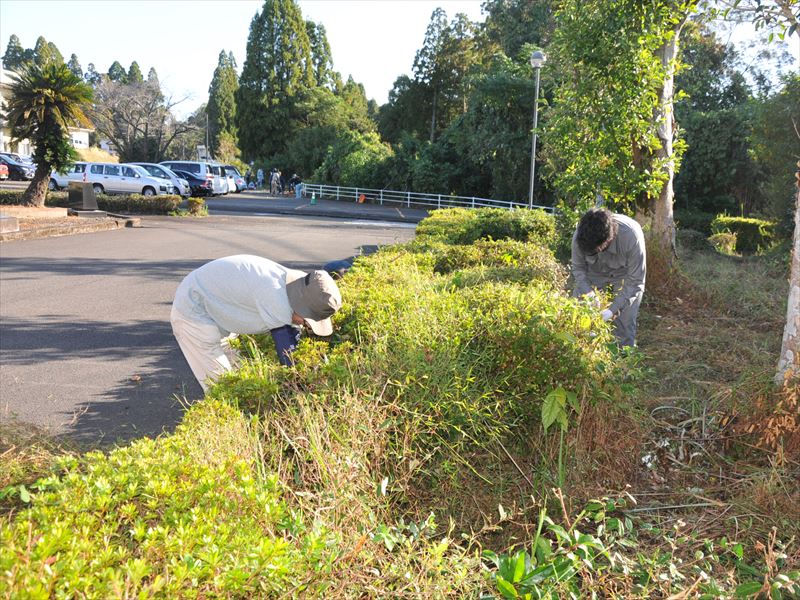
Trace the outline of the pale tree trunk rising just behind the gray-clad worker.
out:
<instances>
[{"instance_id":1,"label":"pale tree trunk rising just behind the gray-clad worker","mask_svg":"<svg viewBox=\"0 0 800 600\"><path fill-rule=\"evenodd\" d=\"M675 200L673 182L675 180L675 159L672 140L675 137L675 116L673 113L673 97L675 95L675 61L678 54L678 39L680 38L683 21L675 27L674 35L664 43L658 51L661 65L664 67L664 86L659 94L659 110L655 115L658 123L658 138L660 147L655 152L655 158L664 162L667 180L661 193L655 199L651 209L652 230L651 240L661 250L662 256L671 262L675 254L675 218L672 212L672 203Z\"/></svg>"}]
</instances>

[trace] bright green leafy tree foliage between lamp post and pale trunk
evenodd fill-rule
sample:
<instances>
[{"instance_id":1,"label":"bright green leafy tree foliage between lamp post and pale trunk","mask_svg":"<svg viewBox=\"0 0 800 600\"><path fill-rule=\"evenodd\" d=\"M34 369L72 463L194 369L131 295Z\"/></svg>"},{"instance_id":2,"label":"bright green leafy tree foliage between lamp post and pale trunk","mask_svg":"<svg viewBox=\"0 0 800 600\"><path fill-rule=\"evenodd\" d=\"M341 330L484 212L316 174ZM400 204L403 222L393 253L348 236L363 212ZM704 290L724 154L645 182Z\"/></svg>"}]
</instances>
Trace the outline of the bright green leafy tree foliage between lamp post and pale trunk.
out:
<instances>
[{"instance_id":1,"label":"bright green leafy tree foliage between lamp post and pale trunk","mask_svg":"<svg viewBox=\"0 0 800 600\"><path fill-rule=\"evenodd\" d=\"M597 193L648 207L668 178L659 92L667 70L658 51L695 2L562 2L551 58L561 82L543 141L550 178L575 204Z\"/></svg>"}]
</instances>

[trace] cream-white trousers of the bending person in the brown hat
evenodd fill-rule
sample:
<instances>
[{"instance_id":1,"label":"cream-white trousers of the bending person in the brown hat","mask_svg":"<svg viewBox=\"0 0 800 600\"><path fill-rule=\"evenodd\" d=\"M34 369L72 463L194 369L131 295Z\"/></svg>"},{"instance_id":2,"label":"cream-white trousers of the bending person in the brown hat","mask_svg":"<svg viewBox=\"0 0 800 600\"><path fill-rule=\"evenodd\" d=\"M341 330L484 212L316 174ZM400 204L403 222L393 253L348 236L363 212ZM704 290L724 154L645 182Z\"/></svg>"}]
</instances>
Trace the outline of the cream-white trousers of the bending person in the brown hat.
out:
<instances>
[{"instance_id":1,"label":"cream-white trousers of the bending person in the brown hat","mask_svg":"<svg viewBox=\"0 0 800 600\"><path fill-rule=\"evenodd\" d=\"M238 366L239 353L229 343L235 334L222 331L208 317L187 317L174 306L170 322L186 362L204 392L210 381Z\"/></svg>"}]
</instances>

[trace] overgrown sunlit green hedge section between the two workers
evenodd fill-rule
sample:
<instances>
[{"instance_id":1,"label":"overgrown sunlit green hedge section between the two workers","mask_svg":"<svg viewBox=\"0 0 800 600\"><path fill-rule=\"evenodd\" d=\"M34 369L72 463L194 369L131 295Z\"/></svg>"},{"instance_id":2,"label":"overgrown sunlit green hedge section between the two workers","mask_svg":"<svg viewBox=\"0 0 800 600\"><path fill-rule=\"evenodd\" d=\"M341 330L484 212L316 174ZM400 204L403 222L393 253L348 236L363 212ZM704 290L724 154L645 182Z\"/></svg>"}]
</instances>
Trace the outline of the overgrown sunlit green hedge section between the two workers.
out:
<instances>
[{"instance_id":1,"label":"overgrown sunlit green hedge section between the two workers","mask_svg":"<svg viewBox=\"0 0 800 600\"><path fill-rule=\"evenodd\" d=\"M612 387L611 337L596 312L539 281L453 285L424 254L361 259L343 281L340 335L360 368L405 407L403 430L425 451L464 450L539 423L562 386L580 399Z\"/></svg>"}]
</instances>

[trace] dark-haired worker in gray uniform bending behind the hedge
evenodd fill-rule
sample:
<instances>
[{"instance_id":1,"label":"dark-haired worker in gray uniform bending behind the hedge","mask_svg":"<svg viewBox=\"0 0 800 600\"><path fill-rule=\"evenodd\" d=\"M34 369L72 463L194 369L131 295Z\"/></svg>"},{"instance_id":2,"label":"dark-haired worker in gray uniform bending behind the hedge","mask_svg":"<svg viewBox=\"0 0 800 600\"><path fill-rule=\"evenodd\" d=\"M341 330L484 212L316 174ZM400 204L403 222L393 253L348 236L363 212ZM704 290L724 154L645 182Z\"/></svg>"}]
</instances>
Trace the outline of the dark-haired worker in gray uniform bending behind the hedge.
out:
<instances>
[{"instance_id":1,"label":"dark-haired worker in gray uniform bending behind the hedge","mask_svg":"<svg viewBox=\"0 0 800 600\"><path fill-rule=\"evenodd\" d=\"M572 236L573 295L611 289L614 299L601 314L604 321L613 321L620 346L636 345L646 270L644 234L636 221L604 208L581 217Z\"/></svg>"}]
</instances>

